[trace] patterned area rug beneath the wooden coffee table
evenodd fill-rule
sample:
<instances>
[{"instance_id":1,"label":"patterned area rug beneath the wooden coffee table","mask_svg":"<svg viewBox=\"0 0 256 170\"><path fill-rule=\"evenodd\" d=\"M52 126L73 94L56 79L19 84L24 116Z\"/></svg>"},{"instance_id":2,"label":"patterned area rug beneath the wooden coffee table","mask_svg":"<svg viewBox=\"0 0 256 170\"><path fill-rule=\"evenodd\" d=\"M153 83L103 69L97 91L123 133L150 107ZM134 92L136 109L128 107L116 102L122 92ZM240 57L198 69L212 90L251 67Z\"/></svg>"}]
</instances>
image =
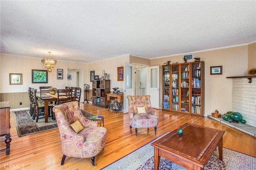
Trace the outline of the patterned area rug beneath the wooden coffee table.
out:
<instances>
[{"instance_id":1,"label":"patterned area rug beneath the wooden coffee table","mask_svg":"<svg viewBox=\"0 0 256 170\"><path fill-rule=\"evenodd\" d=\"M170 132L164 135L168 133ZM104 167L102 170L154 170L154 147L150 145L154 141L151 141L116 162ZM215 150L204 167L204 170L256 170L256 158L240 152L223 148L222 160L223 161L219 160L218 150ZM161 157L159 170L186 169Z\"/></svg>"}]
</instances>

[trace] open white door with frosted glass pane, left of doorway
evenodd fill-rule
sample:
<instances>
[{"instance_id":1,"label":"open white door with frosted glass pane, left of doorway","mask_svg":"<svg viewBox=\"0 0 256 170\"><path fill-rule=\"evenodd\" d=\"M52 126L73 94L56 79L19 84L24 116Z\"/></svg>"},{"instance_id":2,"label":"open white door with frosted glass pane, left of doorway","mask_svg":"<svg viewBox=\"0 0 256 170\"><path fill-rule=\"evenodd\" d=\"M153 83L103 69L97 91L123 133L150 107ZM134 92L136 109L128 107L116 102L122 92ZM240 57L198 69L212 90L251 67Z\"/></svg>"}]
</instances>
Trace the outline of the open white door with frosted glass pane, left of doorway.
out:
<instances>
[{"instance_id":1,"label":"open white door with frosted glass pane, left of doorway","mask_svg":"<svg viewBox=\"0 0 256 170\"><path fill-rule=\"evenodd\" d=\"M128 112L128 99L126 96L134 96L134 64L124 63L124 113Z\"/></svg>"}]
</instances>

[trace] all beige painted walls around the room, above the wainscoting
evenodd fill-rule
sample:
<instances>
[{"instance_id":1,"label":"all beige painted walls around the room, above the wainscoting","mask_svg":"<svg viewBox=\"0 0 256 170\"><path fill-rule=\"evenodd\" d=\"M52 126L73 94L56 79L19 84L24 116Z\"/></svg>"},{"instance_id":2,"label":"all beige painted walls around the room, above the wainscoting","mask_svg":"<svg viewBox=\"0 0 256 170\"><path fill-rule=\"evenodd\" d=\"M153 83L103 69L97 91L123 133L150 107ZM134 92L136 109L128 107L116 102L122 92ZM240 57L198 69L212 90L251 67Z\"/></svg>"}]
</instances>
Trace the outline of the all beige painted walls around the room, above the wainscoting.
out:
<instances>
[{"instance_id":1,"label":"all beige painted walls around the room, above the wainscoting","mask_svg":"<svg viewBox=\"0 0 256 170\"><path fill-rule=\"evenodd\" d=\"M228 76L247 76L249 63L255 61L255 44L244 45L239 47L217 49L212 51L204 51L194 53L194 57L200 57L201 61L205 62L205 114L210 114L218 109L220 113L232 110L232 79L227 79ZM0 56L0 92L1 93L15 93L27 92L28 87L37 88L39 86L56 86L57 88L64 88L66 86L67 68L77 68L84 70L83 81L84 84L89 84L92 89L92 82L90 82L90 71L95 71L95 75L101 75L102 70L107 73L107 78L111 80L110 87L119 87L123 91L123 81L117 81L117 67L123 66L124 63L141 63L151 66L162 66L167 61L170 63L183 63L183 55L172 57L164 57L159 59L142 59L139 57L122 55L111 59L98 61L95 63L83 64L66 61L57 61L57 65L51 73L48 73L48 84L32 84L31 70L42 69L45 70L40 58L22 57L16 55L2 54ZM250 59L250 62L249 60ZM148 63L150 61L150 63ZM210 66L222 66L222 75L210 75ZM63 69L63 80L57 79L56 69ZM160 67L160 107L162 107L162 67ZM10 85L9 73L22 73L22 85ZM92 94L88 94L88 99Z\"/></svg>"}]
</instances>

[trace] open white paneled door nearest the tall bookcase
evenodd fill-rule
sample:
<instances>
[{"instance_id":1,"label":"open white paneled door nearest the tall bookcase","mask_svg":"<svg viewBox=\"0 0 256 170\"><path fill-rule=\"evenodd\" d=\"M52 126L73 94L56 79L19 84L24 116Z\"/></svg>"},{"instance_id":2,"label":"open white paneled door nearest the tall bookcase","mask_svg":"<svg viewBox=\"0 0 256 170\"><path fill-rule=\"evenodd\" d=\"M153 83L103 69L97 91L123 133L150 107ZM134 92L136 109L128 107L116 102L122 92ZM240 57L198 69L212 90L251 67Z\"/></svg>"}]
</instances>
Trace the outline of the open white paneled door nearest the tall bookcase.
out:
<instances>
[{"instance_id":1,"label":"open white paneled door nearest the tall bookcase","mask_svg":"<svg viewBox=\"0 0 256 170\"><path fill-rule=\"evenodd\" d=\"M149 82L151 106L159 109L159 66L149 67Z\"/></svg>"}]
</instances>

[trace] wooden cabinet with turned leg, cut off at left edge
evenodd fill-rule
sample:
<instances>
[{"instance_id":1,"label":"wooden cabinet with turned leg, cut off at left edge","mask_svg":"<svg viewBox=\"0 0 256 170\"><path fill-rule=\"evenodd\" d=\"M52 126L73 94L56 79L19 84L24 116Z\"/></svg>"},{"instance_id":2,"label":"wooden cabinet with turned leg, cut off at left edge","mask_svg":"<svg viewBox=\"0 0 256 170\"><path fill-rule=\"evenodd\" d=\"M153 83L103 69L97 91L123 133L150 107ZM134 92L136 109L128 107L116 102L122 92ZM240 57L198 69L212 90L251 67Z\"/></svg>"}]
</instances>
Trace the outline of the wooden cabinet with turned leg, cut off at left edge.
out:
<instances>
[{"instance_id":1,"label":"wooden cabinet with turned leg, cut off at left edge","mask_svg":"<svg viewBox=\"0 0 256 170\"><path fill-rule=\"evenodd\" d=\"M10 102L0 102L0 121L1 121L1 129L0 129L0 136L6 135L6 139L4 143L6 143L6 149L2 149L1 152L6 150L6 155L10 154L10 143L12 139L10 138Z\"/></svg>"}]
</instances>

